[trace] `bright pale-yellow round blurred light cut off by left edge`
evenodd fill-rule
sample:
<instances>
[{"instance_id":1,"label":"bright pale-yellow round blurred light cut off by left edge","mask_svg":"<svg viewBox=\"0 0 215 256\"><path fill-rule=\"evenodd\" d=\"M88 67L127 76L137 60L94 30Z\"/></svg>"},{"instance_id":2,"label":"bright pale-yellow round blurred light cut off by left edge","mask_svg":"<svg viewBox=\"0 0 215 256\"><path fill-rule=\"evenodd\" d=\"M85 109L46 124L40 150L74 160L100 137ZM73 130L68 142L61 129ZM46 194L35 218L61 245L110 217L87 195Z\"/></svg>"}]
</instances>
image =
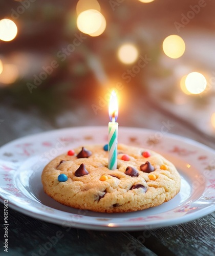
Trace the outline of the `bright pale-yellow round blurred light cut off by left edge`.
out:
<instances>
[{"instance_id":1,"label":"bright pale-yellow round blurred light cut off by left edge","mask_svg":"<svg viewBox=\"0 0 215 256\"><path fill-rule=\"evenodd\" d=\"M16 24L8 19L4 18L0 20L0 40L11 41L17 34Z\"/></svg>"}]
</instances>

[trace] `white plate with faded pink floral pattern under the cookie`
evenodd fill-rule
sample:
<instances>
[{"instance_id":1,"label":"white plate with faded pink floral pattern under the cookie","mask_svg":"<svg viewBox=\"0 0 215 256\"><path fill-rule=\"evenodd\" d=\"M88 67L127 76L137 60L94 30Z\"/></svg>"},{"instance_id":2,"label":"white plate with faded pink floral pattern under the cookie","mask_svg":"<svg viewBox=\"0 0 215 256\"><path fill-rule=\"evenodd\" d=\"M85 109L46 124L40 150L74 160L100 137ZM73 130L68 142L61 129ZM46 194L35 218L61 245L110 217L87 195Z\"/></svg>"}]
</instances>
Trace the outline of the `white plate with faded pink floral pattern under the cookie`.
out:
<instances>
[{"instance_id":1,"label":"white plate with faded pink floral pattern under the cookie","mask_svg":"<svg viewBox=\"0 0 215 256\"><path fill-rule=\"evenodd\" d=\"M164 132L119 127L119 143L148 147L173 162L182 178L180 193L169 202L142 211L102 214L78 210L48 197L41 185L44 166L69 149L106 144L107 127L61 129L12 141L0 148L0 199L23 214L75 228L140 230L177 225L215 210L215 151Z\"/></svg>"}]
</instances>

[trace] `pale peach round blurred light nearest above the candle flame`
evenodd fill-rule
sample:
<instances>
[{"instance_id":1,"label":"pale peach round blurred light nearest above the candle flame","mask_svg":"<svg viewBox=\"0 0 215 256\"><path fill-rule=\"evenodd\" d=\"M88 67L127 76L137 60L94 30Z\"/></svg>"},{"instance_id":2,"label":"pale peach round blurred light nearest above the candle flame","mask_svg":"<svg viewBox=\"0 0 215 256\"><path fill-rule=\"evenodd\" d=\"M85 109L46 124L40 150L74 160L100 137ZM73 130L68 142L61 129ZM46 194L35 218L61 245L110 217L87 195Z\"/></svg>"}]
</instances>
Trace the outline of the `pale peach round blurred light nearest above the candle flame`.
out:
<instances>
[{"instance_id":1,"label":"pale peach round blurred light nearest above the candle flame","mask_svg":"<svg viewBox=\"0 0 215 256\"><path fill-rule=\"evenodd\" d=\"M118 50L118 57L122 63L131 64L137 60L138 50L132 44L124 44Z\"/></svg>"}]
</instances>

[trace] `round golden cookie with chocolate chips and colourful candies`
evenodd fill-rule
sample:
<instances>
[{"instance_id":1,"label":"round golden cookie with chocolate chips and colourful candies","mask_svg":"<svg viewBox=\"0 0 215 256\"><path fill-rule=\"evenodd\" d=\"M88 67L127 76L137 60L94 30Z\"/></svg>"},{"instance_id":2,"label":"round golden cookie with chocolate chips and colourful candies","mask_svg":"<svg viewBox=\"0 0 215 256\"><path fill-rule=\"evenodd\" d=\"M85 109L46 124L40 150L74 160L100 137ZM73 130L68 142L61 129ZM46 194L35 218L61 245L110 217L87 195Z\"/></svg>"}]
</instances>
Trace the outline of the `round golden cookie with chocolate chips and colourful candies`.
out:
<instances>
[{"instance_id":1,"label":"round golden cookie with chocolate chips and colourful candies","mask_svg":"<svg viewBox=\"0 0 215 256\"><path fill-rule=\"evenodd\" d=\"M118 144L117 169L107 166L103 145L71 149L44 168L44 191L61 204L98 212L143 210L179 193L176 167L145 148Z\"/></svg>"}]
</instances>

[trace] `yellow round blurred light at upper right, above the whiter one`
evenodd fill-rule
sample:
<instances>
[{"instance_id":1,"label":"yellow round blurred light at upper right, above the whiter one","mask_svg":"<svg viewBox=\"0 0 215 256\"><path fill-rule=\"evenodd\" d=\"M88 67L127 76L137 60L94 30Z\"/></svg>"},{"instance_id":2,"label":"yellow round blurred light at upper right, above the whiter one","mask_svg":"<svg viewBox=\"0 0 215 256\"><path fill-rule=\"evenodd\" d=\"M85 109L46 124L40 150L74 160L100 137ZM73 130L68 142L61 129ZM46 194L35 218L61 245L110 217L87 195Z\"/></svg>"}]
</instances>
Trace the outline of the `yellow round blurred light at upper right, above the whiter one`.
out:
<instances>
[{"instance_id":1,"label":"yellow round blurred light at upper right, above the whiter one","mask_svg":"<svg viewBox=\"0 0 215 256\"><path fill-rule=\"evenodd\" d=\"M177 59L185 52L185 42L178 35L169 35L163 41L163 51L168 57Z\"/></svg>"}]
</instances>

